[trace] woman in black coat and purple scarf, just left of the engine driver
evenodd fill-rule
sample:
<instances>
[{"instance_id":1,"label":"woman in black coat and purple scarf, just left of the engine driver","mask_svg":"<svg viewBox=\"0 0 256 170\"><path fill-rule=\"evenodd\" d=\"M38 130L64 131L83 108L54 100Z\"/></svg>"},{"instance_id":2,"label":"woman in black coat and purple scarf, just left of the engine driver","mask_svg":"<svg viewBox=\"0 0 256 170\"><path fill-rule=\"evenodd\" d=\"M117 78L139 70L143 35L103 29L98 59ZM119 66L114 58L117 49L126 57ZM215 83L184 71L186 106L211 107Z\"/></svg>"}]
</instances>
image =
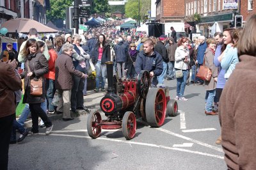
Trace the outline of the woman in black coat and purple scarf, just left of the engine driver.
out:
<instances>
[{"instance_id":1,"label":"woman in black coat and purple scarf, just left of the engine driver","mask_svg":"<svg viewBox=\"0 0 256 170\"><path fill-rule=\"evenodd\" d=\"M136 50L136 45L134 43L130 44L129 47L129 57L127 58L127 78L132 79L136 77L136 71L134 68L135 61L137 58L137 54L140 52L139 50Z\"/></svg>"}]
</instances>

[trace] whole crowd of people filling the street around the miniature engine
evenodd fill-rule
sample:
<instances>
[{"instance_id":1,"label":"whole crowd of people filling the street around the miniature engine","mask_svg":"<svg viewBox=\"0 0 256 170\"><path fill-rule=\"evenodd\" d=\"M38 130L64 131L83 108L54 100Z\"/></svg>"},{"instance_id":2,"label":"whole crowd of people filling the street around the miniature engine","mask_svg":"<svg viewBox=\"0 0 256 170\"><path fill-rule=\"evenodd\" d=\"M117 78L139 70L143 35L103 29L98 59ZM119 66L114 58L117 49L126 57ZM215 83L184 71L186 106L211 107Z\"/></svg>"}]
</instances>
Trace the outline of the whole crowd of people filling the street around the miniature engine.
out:
<instances>
[{"instance_id":1,"label":"whole crowd of people filling the street around the miniature engine","mask_svg":"<svg viewBox=\"0 0 256 170\"><path fill-rule=\"evenodd\" d=\"M87 95L88 72L95 67L95 93L105 91L105 62L113 61L118 79L135 79L141 70L150 73L152 87L164 84L164 80L176 79L175 100L188 100L184 91L191 83L205 86L205 114L220 114L221 136L216 144L223 145L228 167L252 169L256 166L255 150L250 146L255 145L256 136L254 128L246 127L253 127L255 122L252 114L256 110L253 105L256 83L252 79L256 62L255 24L256 15L252 15L244 29L228 28L223 33L215 33L214 38L198 36L189 40L182 36L176 40L175 34L171 37L148 37L144 33L138 36L135 30L118 31L106 23L83 35L58 35L53 43L40 40L36 29L31 28L19 52L13 49L12 43L7 43L5 51L9 52L9 58L5 59L4 51L0 56L3 61L0 62L1 167L7 167L9 143L20 143L28 134L38 134L38 117L46 127L45 134L49 135L53 125L47 114L56 112L63 115L63 121L70 121L74 120L77 110L88 111L83 100ZM173 27L172 31L175 31ZM209 81L196 77L203 65L211 70ZM16 121L21 79L24 79L22 102L26 107ZM31 81L39 80L42 95L31 95ZM60 97L58 107L52 105L56 90ZM30 131L23 127L29 112ZM19 139L16 139L16 129L20 132Z\"/></svg>"}]
</instances>

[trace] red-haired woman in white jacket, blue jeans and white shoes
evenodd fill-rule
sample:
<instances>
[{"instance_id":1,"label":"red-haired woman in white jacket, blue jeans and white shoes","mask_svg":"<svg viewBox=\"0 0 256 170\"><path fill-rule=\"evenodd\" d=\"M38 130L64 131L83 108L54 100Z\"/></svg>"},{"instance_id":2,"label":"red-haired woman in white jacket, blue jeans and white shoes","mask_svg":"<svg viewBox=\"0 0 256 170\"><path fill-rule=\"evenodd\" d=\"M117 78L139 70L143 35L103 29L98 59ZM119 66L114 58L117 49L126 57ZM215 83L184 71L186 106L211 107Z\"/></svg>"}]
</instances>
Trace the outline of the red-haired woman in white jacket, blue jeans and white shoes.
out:
<instances>
[{"instance_id":1,"label":"red-haired woman in white jacket, blue jeans and white shoes","mask_svg":"<svg viewBox=\"0 0 256 170\"><path fill-rule=\"evenodd\" d=\"M175 71L182 70L183 74L182 77L177 78L177 95L175 97L175 100L188 100L187 98L183 97L188 75L188 65L190 62L188 43L188 38L182 37L179 40L178 48L175 51Z\"/></svg>"}]
</instances>

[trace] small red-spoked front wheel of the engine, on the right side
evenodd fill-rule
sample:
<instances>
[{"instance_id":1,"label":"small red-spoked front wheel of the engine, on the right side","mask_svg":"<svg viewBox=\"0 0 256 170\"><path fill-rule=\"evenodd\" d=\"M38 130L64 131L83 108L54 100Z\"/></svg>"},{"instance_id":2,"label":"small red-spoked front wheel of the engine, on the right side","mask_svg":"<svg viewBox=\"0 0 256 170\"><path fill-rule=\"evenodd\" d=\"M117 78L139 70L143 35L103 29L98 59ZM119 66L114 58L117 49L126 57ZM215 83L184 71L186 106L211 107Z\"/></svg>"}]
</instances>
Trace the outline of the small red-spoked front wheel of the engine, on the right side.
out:
<instances>
[{"instance_id":1,"label":"small red-spoked front wheel of the engine, on the right side","mask_svg":"<svg viewBox=\"0 0 256 170\"><path fill-rule=\"evenodd\" d=\"M136 132L136 117L133 112L125 112L122 120L122 131L125 139L130 140Z\"/></svg>"}]
</instances>

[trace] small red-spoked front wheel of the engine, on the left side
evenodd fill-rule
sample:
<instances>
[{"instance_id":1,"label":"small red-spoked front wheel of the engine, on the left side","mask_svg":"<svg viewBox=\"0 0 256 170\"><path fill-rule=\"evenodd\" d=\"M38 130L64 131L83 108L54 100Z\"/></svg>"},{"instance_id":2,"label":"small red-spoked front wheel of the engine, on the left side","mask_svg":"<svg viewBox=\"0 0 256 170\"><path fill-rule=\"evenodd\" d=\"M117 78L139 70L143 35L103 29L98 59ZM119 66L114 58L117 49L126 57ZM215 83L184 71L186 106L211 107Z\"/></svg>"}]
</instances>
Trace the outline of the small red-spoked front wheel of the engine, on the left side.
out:
<instances>
[{"instance_id":1,"label":"small red-spoked front wheel of the engine, on the left side","mask_svg":"<svg viewBox=\"0 0 256 170\"><path fill-rule=\"evenodd\" d=\"M87 119L87 132L90 137L96 139L101 132L101 116L99 112L91 112Z\"/></svg>"}]
</instances>

